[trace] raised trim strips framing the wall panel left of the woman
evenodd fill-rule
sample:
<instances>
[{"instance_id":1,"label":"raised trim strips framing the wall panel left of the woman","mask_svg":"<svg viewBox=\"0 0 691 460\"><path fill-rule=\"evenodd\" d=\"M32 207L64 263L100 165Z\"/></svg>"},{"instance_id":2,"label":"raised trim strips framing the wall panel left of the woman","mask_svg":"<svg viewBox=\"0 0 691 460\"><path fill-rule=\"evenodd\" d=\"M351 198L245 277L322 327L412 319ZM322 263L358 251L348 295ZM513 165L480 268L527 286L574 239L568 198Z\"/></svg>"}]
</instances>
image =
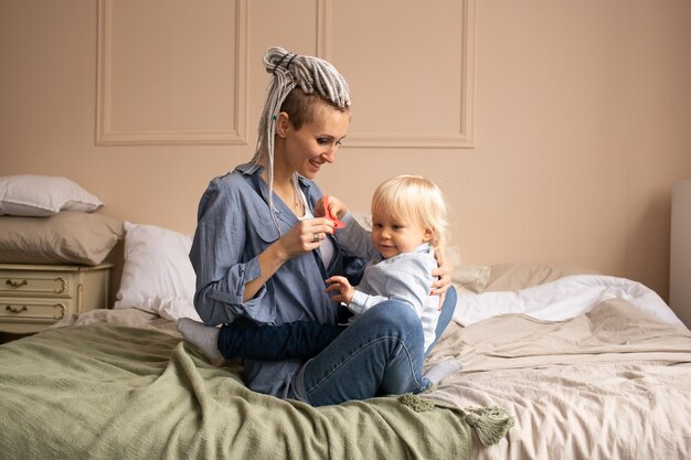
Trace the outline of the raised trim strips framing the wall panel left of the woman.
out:
<instances>
[{"instance_id":1,"label":"raised trim strips framing the wall panel left of the woman","mask_svg":"<svg viewBox=\"0 0 691 460\"><path fill-rule=\"evenodd\" d=\"M96 143L110 145L247 145L247 0L235 1L234 126L227 130L117 131L110 124L111 6L98 0L98 71Z\"/></svg>"}]
</instances>

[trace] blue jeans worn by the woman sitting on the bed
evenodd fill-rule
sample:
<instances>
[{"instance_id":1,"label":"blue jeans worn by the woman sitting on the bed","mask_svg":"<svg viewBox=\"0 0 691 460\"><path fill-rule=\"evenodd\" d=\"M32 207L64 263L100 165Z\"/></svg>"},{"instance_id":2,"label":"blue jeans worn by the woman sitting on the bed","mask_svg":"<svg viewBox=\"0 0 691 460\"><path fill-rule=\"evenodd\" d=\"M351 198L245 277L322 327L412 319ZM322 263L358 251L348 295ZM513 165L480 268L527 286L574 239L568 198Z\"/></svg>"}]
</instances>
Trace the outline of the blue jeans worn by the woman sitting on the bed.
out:
<instances>
[{"instance_id":1,"label":"blue jeans worn by the woman sitting on the bed","mask_svg":"<svg viewBox=\"0 0 691 460\"><path fill-rule=\"evenodd\" d=\"M436 328L424 347L419 318L403 302L382 302L359 315L294 379L296 395L312 406L340 404L387 394L418 393L429 386L423 362L448 325L456 308L450 288Z\"/></svg>"}]
</instances>

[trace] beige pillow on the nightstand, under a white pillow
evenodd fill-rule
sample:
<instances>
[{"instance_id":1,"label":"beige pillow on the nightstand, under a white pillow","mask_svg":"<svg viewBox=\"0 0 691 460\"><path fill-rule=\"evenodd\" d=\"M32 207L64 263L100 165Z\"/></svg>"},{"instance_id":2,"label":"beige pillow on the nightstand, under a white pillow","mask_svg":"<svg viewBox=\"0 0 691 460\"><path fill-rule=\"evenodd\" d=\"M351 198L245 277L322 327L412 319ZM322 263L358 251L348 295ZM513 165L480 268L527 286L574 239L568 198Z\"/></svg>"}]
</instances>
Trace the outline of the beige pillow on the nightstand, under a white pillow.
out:
<instances>
[{"instance_id":1,"label":"beige pillow on the nightstand, under a white pillow","mask_svg":"<svg viewBox=\"0 0 691 460\"><path fill-rule=\"evenodd\" d=\"M47 217L0 217L0 263L98 265L123 237L123 223L62 211Z\"/></svg>"}]
</instances>

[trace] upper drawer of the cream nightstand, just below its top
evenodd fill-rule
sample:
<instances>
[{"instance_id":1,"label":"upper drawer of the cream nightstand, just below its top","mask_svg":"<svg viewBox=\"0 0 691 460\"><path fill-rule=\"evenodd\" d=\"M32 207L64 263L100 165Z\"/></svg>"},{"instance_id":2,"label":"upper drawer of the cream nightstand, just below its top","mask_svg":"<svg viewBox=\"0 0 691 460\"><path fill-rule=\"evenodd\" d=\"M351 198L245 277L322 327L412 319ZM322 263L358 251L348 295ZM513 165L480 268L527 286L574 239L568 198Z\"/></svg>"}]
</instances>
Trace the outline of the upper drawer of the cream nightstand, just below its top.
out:
<instances>
[{"instance_id":1,"label":"upper drawer of the cream nightstand, just below its top","mask_svg":"<svg viewBox=\"0 0 691 460\"><path fill-rule=\"evenodd\" d=\"M4 296L72 297L72 277L55 274L3 271L0 274L0 298Z\"/></svg>"}]
</instances>

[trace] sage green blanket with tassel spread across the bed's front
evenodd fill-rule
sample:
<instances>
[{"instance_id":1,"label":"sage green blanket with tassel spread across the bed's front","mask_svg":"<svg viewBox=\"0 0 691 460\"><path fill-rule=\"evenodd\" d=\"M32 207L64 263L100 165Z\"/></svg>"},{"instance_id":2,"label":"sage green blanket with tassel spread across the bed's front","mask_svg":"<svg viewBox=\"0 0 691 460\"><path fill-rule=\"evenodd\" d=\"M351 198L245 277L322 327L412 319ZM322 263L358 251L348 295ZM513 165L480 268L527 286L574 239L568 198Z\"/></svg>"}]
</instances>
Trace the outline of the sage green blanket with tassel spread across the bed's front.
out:
<instances>
[{"instance_id":1,"label":"sage green blanket with tassel spread across the bed's front","mask_svg":"<svg viewBox=\"0 0 691 460\"><path fill-rule=\"evenodd\" d=\"M105 323L1 345L0 395L0 457L15 460L469 459L472 452L472 428L460 409L416 410L415 398L397 397L321 408L281 400L249 391L179 339Z\"/></svg>"}]
</instances>

